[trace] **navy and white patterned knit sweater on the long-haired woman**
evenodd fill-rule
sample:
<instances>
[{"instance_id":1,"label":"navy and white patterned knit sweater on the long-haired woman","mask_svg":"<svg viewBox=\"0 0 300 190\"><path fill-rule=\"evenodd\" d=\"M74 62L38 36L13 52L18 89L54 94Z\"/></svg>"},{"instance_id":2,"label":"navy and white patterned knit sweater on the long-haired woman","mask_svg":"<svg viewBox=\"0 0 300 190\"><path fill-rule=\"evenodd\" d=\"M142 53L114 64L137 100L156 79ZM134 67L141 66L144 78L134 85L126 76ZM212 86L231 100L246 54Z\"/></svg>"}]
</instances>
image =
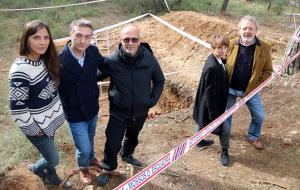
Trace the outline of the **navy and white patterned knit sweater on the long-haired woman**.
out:
<instances>
[{"instance_id":1,"label":"navy and white patterned knit sweater on the long-haired woman","mask_svg":"<svg viewBox=\"0 0 300 190\"><path fill-rule=\"evenodd\" d=\"M25 135L54 136L64 121L57 88L43 60L17 58L9 72L10 112Z\"/></svg>"}]
</instances>

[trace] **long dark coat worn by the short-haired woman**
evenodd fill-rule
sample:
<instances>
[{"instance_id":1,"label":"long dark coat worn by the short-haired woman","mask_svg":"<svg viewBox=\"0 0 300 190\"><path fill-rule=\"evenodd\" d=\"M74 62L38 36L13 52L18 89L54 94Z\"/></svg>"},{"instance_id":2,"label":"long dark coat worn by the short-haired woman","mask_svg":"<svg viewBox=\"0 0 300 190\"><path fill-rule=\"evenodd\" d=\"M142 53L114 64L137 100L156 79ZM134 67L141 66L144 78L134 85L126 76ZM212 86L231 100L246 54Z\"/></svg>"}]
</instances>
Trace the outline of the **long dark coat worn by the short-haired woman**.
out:
<instances>
[{"instance_id":1,"label":"long dark coat worn by the short-haired woman","mask_svg":"<svg viewBox=\"0 0 300 190\"><path fill-rule=\"evenodd\" d=\"M202 129L224 113L228 97L227 74L213 54L205 62L199 82L193 119ZM221 127L214 131L221 133Z\"/></svg>"}]
</instances>

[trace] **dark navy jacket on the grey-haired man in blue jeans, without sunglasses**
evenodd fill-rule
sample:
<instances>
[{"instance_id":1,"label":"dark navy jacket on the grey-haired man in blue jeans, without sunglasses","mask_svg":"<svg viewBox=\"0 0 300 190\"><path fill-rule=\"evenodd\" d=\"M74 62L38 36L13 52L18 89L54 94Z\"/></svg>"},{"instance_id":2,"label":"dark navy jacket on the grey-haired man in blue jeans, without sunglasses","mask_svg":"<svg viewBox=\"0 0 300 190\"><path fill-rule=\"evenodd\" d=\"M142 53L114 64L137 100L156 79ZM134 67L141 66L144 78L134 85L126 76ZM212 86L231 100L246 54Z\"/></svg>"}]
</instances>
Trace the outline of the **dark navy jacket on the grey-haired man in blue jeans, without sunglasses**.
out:
<instances>
[{"instance_id":1,"label":"dark navy jacket on the grey-haired man in blue jeans, without sunglasses","mask_svg":"<svg viewBox=\"0 0 300 190\"><path fill-rule=\"evenodd\" d=\"M59 94L68 122L88 121L99 111L99 89L97 67L104 58L97 47L90 45L85 51L84 66L81 67L68 45L59 54Z\"/></svg>"}]
</instances>

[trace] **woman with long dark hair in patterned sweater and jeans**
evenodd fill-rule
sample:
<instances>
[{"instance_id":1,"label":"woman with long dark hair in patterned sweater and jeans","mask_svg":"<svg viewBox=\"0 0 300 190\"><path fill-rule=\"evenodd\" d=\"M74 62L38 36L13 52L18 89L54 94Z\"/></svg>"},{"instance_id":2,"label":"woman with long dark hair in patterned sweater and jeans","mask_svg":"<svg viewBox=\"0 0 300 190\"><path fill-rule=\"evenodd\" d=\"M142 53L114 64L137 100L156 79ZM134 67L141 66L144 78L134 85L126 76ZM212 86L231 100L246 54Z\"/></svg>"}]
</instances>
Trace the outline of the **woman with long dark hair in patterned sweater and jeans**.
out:
<instances>
[{"instance_id":1,"label":"woman with long dark hair in patterned sweater and jeans","mask_svg":"<svg viewBox=\"0 0 300 190\"><path fill-rule=\"evenodd\" d=\"M9 72L10 112L16 125L41 154L28 169L45 184L58 186L62 180L55 169L59 157L54 135L65 118L57 92L57 52L45 23L34 20L24 25L19 54Z\"/></svg>"}]
</instances>

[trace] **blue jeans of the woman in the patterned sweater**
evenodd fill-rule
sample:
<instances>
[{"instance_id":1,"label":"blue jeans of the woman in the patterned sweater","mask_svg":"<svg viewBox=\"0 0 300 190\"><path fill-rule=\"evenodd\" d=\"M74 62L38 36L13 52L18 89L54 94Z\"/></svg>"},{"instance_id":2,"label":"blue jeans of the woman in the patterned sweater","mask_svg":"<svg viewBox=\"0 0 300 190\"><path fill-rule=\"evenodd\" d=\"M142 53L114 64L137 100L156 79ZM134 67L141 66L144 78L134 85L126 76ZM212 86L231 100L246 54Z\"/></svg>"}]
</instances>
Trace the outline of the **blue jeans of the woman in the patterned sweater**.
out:
<instances>
[{"instance_id":1,"label":"blue jeans of the woman in the patterned sweater","mask_svg":"<svg viewBox=\"0 0 300 190\"><path fill-rule=\"evenodd\" d=\"M41 137L26 137L41 154L41 158L33 166L33 171L36 173L46 169L48 174L56 173L55 166L59 162L59 157L55 148L54 137L48 137L46 135Z\"/></svg>"}]
</instances>

